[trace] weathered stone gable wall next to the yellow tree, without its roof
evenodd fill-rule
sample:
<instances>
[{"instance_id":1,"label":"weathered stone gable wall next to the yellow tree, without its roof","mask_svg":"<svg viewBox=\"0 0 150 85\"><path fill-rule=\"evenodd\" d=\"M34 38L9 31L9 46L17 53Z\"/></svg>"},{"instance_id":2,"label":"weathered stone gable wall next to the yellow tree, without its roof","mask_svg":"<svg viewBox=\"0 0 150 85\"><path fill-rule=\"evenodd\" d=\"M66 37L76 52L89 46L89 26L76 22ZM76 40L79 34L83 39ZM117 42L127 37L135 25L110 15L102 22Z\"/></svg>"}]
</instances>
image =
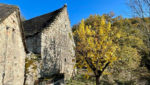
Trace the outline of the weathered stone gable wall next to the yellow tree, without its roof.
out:
<instances>
[{"instance_id":1,"label":"weathered stone gable wall next to the yellow tree, without its roof","mask_svg":"<svg viewBox=\"0 0 150 85\"><path fill-rule=\"evenodd\" d=\"M64 73L65 79L70 79L74 71L74 41L64 7L59 15L42 32L41 56L43 60L43 76Z\"/></svg>"}]
</instances>

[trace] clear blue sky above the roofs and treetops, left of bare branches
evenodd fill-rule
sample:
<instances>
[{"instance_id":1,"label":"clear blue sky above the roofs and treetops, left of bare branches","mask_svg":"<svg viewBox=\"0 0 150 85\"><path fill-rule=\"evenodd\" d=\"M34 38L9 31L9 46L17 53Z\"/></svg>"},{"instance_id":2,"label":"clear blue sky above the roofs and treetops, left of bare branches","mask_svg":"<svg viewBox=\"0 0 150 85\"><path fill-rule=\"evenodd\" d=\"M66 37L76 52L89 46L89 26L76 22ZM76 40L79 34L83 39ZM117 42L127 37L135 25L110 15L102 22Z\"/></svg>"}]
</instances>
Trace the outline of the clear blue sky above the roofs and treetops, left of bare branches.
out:
<instances>
[{"instance_id":1,"label":"clear blue sky above the roofs and treetops, left of bare branches","mask_svg":"<svg viewBox=\"0 0 150 85\"><path fill-rule=\"evenodd\" d=\"M126 0L0 0L0 3L19 6L26 19L52 12L66 3L71 25L79 23L90 14L102 15L113 11L116 16L130 16Z\"/></svg>"}]
</instances>

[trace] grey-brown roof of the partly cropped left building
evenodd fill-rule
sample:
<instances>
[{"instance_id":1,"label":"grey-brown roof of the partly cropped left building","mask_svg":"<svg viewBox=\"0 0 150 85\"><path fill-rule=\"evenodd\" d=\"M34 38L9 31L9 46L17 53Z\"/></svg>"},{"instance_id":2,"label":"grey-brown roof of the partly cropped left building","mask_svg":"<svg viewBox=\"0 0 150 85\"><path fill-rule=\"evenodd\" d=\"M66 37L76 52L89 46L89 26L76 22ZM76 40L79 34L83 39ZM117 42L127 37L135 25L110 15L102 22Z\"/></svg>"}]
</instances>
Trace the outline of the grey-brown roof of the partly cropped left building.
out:
<instances>
[{"instance_id":1,"label":"grey-brown roof of the partly cropped left building","mask_svg":"<svg viewBox=\"0 0 150 85\"><path fill-rule=\"evenodd\" d=\"M17 6L0 3L0 23L18 9L19 8Z\"/></svg>"}]
</instances>

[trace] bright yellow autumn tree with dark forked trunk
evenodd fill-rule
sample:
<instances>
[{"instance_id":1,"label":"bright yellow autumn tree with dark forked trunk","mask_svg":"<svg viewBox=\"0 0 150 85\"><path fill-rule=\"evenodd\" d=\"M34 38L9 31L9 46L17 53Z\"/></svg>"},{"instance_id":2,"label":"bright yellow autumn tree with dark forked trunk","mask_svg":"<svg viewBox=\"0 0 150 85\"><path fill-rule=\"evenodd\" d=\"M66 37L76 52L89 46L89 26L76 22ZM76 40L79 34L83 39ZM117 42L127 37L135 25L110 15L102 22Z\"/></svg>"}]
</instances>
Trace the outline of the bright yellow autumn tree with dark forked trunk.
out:
<instances>
[{"instance_id":1,"label":"bright yellow autumn tree with dark forked trunk","mask_svg":"<svg viewBox=\"0 0 150 85\"><path fill-rule=\"evenodd\" d=\"M82 20L74 35L77 36L76 66L87 69L88 73L93 72L96 85L99 85L104 70L117 59L119 46L115 41L120 38L120 32L101 16L100 22L93 26L85 25Z\"/></svg>"}]
</instances>

